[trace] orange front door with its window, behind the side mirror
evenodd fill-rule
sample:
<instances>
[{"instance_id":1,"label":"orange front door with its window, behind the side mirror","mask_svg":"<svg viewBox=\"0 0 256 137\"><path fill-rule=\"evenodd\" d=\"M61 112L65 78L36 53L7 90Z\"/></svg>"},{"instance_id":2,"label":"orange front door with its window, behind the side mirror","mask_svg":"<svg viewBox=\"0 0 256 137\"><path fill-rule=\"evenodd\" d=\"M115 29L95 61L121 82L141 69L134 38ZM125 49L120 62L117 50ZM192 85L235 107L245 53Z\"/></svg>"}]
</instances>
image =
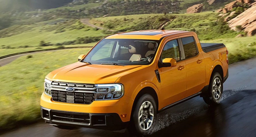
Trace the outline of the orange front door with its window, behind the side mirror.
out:
<instances>
[{"instance_id":1,"label":"orange front door with its window, behind the side mirror","mask_svg":"<svg viewBox=\"0 0 256 137\"><path fill-rule=\"evenodd\" d=\"M173 58L177 61L175 67L161 67L161 96L163 106L179 101L186 96L186 62L182 60L179 40L168 39L161 52L160 62L165 58Z\"/></svg>"}]
</instances>

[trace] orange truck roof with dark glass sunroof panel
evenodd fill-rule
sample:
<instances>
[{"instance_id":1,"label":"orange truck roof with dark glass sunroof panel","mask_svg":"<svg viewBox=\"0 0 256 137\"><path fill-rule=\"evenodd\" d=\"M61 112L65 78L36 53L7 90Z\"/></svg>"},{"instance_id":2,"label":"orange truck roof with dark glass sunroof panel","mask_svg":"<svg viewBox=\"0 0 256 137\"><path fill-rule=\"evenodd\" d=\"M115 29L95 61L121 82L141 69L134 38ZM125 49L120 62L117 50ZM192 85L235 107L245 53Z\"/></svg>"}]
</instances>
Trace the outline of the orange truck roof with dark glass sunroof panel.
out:
<instances>
[{"instance_id":1,"label":"orange truck roof with dark glass sunroof panel","mask_svg":"<svg viewBox=\"0 0 256 137\"><path fill-rule=\"evenodd\" d=\"M181 36L193 32L183 30L140 30L133 32L123 32L106 37L105 39L150 39L160 40L165 36Z\"/></svg>"}]
</instances>

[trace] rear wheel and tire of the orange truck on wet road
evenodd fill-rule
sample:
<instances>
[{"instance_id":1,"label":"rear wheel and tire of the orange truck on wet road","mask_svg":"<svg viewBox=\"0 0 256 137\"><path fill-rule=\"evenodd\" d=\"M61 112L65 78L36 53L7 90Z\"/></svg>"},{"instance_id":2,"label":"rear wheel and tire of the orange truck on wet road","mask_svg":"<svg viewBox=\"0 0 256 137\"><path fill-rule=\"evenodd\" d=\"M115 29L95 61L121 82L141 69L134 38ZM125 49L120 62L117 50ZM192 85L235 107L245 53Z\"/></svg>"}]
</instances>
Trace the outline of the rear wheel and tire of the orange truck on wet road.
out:
<instances>
[{"instance_id":1,"label":"rear wheel and tire of the orange truck on wet road","mask_svg":"<svg viewBox=\"0 0 256 137\"><path fill-rule=\"evenodd\" d=\"M211 77L209 89L203 100L210 106L216 106L221 102L223 92L223 80L218 72L215 72Z\"/></svg>"}]
</instances>

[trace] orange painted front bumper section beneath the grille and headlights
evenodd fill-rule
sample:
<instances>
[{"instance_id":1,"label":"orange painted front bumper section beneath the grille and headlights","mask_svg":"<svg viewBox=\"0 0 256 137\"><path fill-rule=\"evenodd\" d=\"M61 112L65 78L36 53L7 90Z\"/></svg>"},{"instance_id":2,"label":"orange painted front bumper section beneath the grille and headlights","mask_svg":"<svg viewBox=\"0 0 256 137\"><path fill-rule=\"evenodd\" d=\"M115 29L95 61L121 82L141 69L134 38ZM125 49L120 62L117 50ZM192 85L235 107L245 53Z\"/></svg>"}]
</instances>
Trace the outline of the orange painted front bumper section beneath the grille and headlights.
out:
<instances>
[{"instance_id":1,"label":"orange painted front bumper section beneath the grille and headlights","mask_svg":"<svg viewBox=\"0 0 256 137\"><path fill-rule=\"evenodd\" d=\"M124 95L118 100L93 101L91 104L74 104L53 101L50 96L43 93L40 105L41 107L57 111L91 114L115 113L122 122L128 122L130 121L133 100ZM126 114L126 117L121 118L122 114Z\"/></svg>"}]
</instances>

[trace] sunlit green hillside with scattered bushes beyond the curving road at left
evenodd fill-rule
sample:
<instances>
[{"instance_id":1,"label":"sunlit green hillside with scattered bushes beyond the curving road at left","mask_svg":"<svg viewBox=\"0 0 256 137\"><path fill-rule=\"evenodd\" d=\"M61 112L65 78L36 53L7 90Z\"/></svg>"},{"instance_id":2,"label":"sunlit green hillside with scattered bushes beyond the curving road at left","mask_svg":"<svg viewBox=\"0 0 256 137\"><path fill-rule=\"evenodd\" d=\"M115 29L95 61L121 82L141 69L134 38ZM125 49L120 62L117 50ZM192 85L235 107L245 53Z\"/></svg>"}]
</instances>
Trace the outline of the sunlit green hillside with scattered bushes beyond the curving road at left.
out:
<instances>
[{"instance_id":1,"label":"sunlit green hillside with scattered bushes beyond the curving road at left","mask_svg":"<svg viewBox=\"0 0 256 137\"><path fill-rule=\"evenodd\" d=\"M107 35L104 33L102 30L83 25L77 20L63 21L56 25L55 20L53 20L33 25L12 26L0 30L0 37L2 37L0 43L11 48L38 47L40 41L55 45L56 43L73 41L78 37L104 37Z\"/></svg>"}]
</instances>

